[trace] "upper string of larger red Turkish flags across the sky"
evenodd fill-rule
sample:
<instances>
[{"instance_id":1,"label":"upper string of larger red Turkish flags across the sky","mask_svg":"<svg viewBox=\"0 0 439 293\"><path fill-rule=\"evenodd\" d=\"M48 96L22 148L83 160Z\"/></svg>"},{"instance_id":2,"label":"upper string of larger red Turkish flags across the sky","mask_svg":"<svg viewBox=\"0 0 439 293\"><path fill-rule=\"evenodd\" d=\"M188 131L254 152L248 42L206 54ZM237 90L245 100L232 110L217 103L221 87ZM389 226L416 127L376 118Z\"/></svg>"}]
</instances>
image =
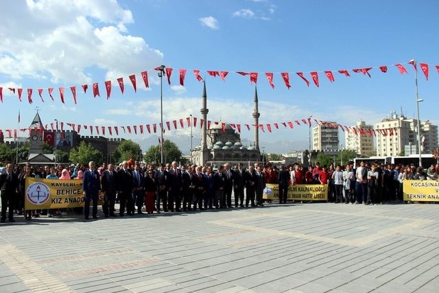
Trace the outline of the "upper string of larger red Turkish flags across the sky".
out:
<instances>
[{"instance_id":1,"label":"upper string of larger red Turkish flags across the sky","mask_svg":"<svg viewBox=\"0 0 439 293\"><path fill-rule=\"evenodd\" d=\"M414 71L418 71L418 67L416 64L416 60L410 60L409 62L406 63L407 65L412 65L414 68ZM407 66L406 65L406 66ZM429 65L427 63L423 63L420 62L420 69L421 71L423 71L424 75L425 75L425 79L428 81L429 78ZM403 65L403 63L397 63L392 65L392 67L396 67L396 69L398 69L399 73L403 74L408 74L409 72L407 71L407 69L405 68L405 66ZM434 65L434 67L436 67L436 71L438 71L439 73L439 65ZM357 69L351 69L351 71L353 73L362 73L363 75L368 75L369 78L372 77L372 75L370 75L370 71L372 71L372 69L379 69L382 73L386 73L388 72L388 65L383 65L383 66L379 66L379 67L364 67L364 68L357 68ZM151 69L149 71L161 71L161 73L163 75L166 76L167 78L167 82L169 84L169 86L171 85L171 75L174 72L174 69L171 67L156 67L154 69ZM203 80L202 76L200 75L200 71L199 69L189 69L191 71L193 71L193 75L195 77L196 80L198 80L198 82L201 82ZM188 69L178 69L178 82L181 86L185 86L185 78L186 78L186 73L187 73ZM228 73L230 73L230 71L212 71L212 70L206 70L203 71L206 72L207 75L213 76L214 78L219 76L219 78L221 78L224 82L226 82L226 76L228 75ZM250 84L254 83L257 84L258 82L258 77L259 75L265 75L265 78L267 78L268 83L270 84L270 86L272 87L272 89L274 89L275 85L274 85L274 74L280 74L281 78L283 80L283 83L285 84L285 86L287 87L287 89L290 89L292 87L292 83L290 81L290 78L292 77L291 75L298 75L298 77L303 80L305 82L305 84L307 84L307 86L309 86L309 84L311 84L311 82L309 82L309 80L307 79L307 75L309 74L310 79L312 80L313 84L315 84L317 87L320 86L320 80L319 80L319 74L320 76L323 74L325 75L329 82L335 82L335 74L334 73L340 73L341 75L344 75L345 77L350 77L351 74L349 73L350 71L348 71L347 69L340 69L337 71L310 71L310 72L302 72L302 71L298 71L295 73L292 72L280 72L280 73L274 73L274 72L265 72L265 73L259 73L259 72L251 72L251 71L234 71L234 73L237 73L239 75L243 75L246 76L248 75L250 77ZM290 75L291 74L291 75ZM141 80L143 80L143 84L145 85L145 88L149 88L150 87L150 83L148 80L148 70L147 71L142 71L140 73L141 76ZM128 79L130 80L131 84L132 84L132 89L134 90L134 93L137 93L137 75L136 74L132 74L132 75L128 75ZM125 80L123 80L123 78L117 78L117 84L119 84L119 89L121 91L121 93L123 94L125 92ZM93 97L100 97L101 93L99 91L99 82L93 82L91 84L92 86L92 91L93 91ZM106 80L104 82L104 86L105 86L105 90L106 90L106 98L110 99L110 95L111 95L111 91L112 91L112 82L111 80ZM71 91L71 95L73 97L73 102L75 104L77 104L78 99L77 99L77 88L82 89L82 91L84 91L84 94L86 94L86 91L88 90L88 84L82 84L81 86L66 86L66 87L59 87L58 88L58 92L59 92L59 96L60 96L60 100L61 102L64 104L64 91L67 89L70 89ZM23 95L23 89L14 89L14 88L9 88L7 87L7 89L9 89L10 91L12 91L12 93L14 93L14 95L17 95L17 97L19 98L19 101L22 102L22 95ZM45 102L45 98L43 97L44 93L47 91L47 94L45 94L46 96L49 95L50 99L52 101L55 100L54 98L54 89L53 87L51 88L38 88L36 89L36 92L38 92L38 95L41 99L42 102ZM27 101L29 102L29 104L33 103L33 98L32 95L34 93L34 89L27 89ZM3 87L0 86L0 102L3 103Z\"/></svg>"}]
</instances>

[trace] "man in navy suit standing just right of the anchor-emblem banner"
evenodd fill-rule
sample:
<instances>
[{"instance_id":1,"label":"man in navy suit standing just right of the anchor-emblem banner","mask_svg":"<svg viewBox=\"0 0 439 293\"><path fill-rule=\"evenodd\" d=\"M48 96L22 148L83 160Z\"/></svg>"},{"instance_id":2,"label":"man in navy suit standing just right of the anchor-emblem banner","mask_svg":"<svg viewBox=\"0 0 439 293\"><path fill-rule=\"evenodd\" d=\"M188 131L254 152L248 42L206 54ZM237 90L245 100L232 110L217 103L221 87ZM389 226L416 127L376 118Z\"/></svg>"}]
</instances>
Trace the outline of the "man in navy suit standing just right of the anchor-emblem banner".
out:
<instances>
[{"instance_id":1,"label":"man in navy suit standing just right of the anchor-emblem banner","mask_svg":"<svg viewBox=\"0 0 439 293\"><path fill-rule=\"evenodd\" d=\"M97 196L99 195L99 191L101 191L101 181L99 180L99 172L95 169L95 162L93 161L88 163L88 170L84 172L82 188L84 189L85 196L85 220L88 220L88 215L90 215L90 200L93 202L93 219L97 219Z\"/></svg>"}]
</instances>

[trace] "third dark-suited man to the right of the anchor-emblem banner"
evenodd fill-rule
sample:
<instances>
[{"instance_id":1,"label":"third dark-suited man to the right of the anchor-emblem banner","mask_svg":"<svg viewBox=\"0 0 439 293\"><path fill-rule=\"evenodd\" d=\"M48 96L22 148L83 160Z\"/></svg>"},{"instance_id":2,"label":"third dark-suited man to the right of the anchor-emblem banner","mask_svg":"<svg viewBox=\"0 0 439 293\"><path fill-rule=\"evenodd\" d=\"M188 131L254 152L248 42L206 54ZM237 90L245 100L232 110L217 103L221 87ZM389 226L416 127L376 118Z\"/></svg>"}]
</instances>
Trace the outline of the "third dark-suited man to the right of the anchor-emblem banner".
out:
<instances>
[{"instance_id":1,"label":"third dark-suited man to the right of the anchor-emblem banner","mask_svg":"<svg viewBox=\"0 0 439 293\"><path fill-rule=\"evenodd\" d=\"M122 167L119 170L119 174L117 174L117 178L119 183L118 187L118 196L120 202L119 215L123 217L123 213L125 213L125 207L127 206L127 215L134 215L134 201L132 200L132 188L133 181L131 170L128 169L128 162L123 161Z\"/></svg>"}]
</instances>

